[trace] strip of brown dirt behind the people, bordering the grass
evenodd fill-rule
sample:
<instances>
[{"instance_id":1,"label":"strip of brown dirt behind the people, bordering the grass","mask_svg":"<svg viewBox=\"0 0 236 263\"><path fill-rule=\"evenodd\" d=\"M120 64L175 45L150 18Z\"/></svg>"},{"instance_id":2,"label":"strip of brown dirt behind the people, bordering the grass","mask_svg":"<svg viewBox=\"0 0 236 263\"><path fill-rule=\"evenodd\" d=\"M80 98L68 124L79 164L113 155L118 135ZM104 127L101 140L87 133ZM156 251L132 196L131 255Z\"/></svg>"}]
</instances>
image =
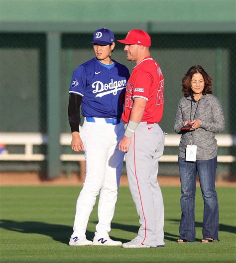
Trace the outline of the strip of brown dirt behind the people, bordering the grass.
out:
<instances>
[{"instance_id":1,"label":"strip of brown dirt behind the people, bordering the grass","mask_svg":"<svg viewBox=\"0 0 236 263\"><path fill-rule=\"evenodd\" d=\"M82 185L84 178L80 178L78 174L70 176L61 175L54 179L40 179L37 173L0 173L0 186L7 185ZM177 176L158 176L160 186L180 186L180 180ZM120 185L128 185L127 176L122 175ZM199 182L197 181L197 185ZM236 187L236 182L217 181L217 186L232 186Z\"/></svg>"}]
</instances>

